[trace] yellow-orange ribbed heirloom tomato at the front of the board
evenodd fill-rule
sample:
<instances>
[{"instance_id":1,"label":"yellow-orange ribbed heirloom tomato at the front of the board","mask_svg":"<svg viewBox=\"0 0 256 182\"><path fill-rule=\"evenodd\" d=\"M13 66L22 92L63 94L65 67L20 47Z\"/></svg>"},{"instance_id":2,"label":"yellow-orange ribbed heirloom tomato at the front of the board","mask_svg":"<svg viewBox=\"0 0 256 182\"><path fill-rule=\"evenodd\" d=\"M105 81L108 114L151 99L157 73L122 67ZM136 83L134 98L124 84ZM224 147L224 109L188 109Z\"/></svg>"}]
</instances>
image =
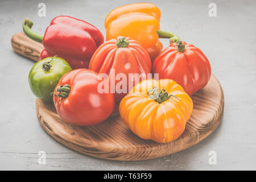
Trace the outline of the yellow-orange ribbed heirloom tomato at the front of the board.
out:
<instances>
[{"instance_id":1,"label":"yellow-orange ribbed heirloom tomato at the front of the board","mask_svg":"<svg viewBox=\"0 0 256 182\"><path fill-rule=\"evenodd\" d=\"M134 134L159 143L177 139L192 110L192 99L171 79L144 80L119 105L123 122Z\"/></svg>"}]
</instances>

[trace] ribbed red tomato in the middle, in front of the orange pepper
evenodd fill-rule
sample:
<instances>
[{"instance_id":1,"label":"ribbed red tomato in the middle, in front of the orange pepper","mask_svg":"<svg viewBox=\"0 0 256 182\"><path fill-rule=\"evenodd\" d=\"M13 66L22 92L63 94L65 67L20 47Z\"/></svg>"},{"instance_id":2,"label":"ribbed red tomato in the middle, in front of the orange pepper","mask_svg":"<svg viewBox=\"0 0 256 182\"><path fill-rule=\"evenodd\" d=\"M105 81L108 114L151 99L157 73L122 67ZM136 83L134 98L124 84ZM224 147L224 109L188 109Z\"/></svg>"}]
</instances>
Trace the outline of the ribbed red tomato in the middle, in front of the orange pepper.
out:
<instances>
[{"instance_id":1,"label":"ribbed red tomato in the middle, in front of the orange pepper","mask_svg":"<svg viewBox=\"0 0 256 182\"><path fill-rule=\"evenodd\" d=\"M108 75L115 101L119 102L129 89L151 73L151 60L139 42L118 37L101 44L90 60L89 69ZM145 77L140 77L141 74Z\"/></svg>"}]
</instances>

